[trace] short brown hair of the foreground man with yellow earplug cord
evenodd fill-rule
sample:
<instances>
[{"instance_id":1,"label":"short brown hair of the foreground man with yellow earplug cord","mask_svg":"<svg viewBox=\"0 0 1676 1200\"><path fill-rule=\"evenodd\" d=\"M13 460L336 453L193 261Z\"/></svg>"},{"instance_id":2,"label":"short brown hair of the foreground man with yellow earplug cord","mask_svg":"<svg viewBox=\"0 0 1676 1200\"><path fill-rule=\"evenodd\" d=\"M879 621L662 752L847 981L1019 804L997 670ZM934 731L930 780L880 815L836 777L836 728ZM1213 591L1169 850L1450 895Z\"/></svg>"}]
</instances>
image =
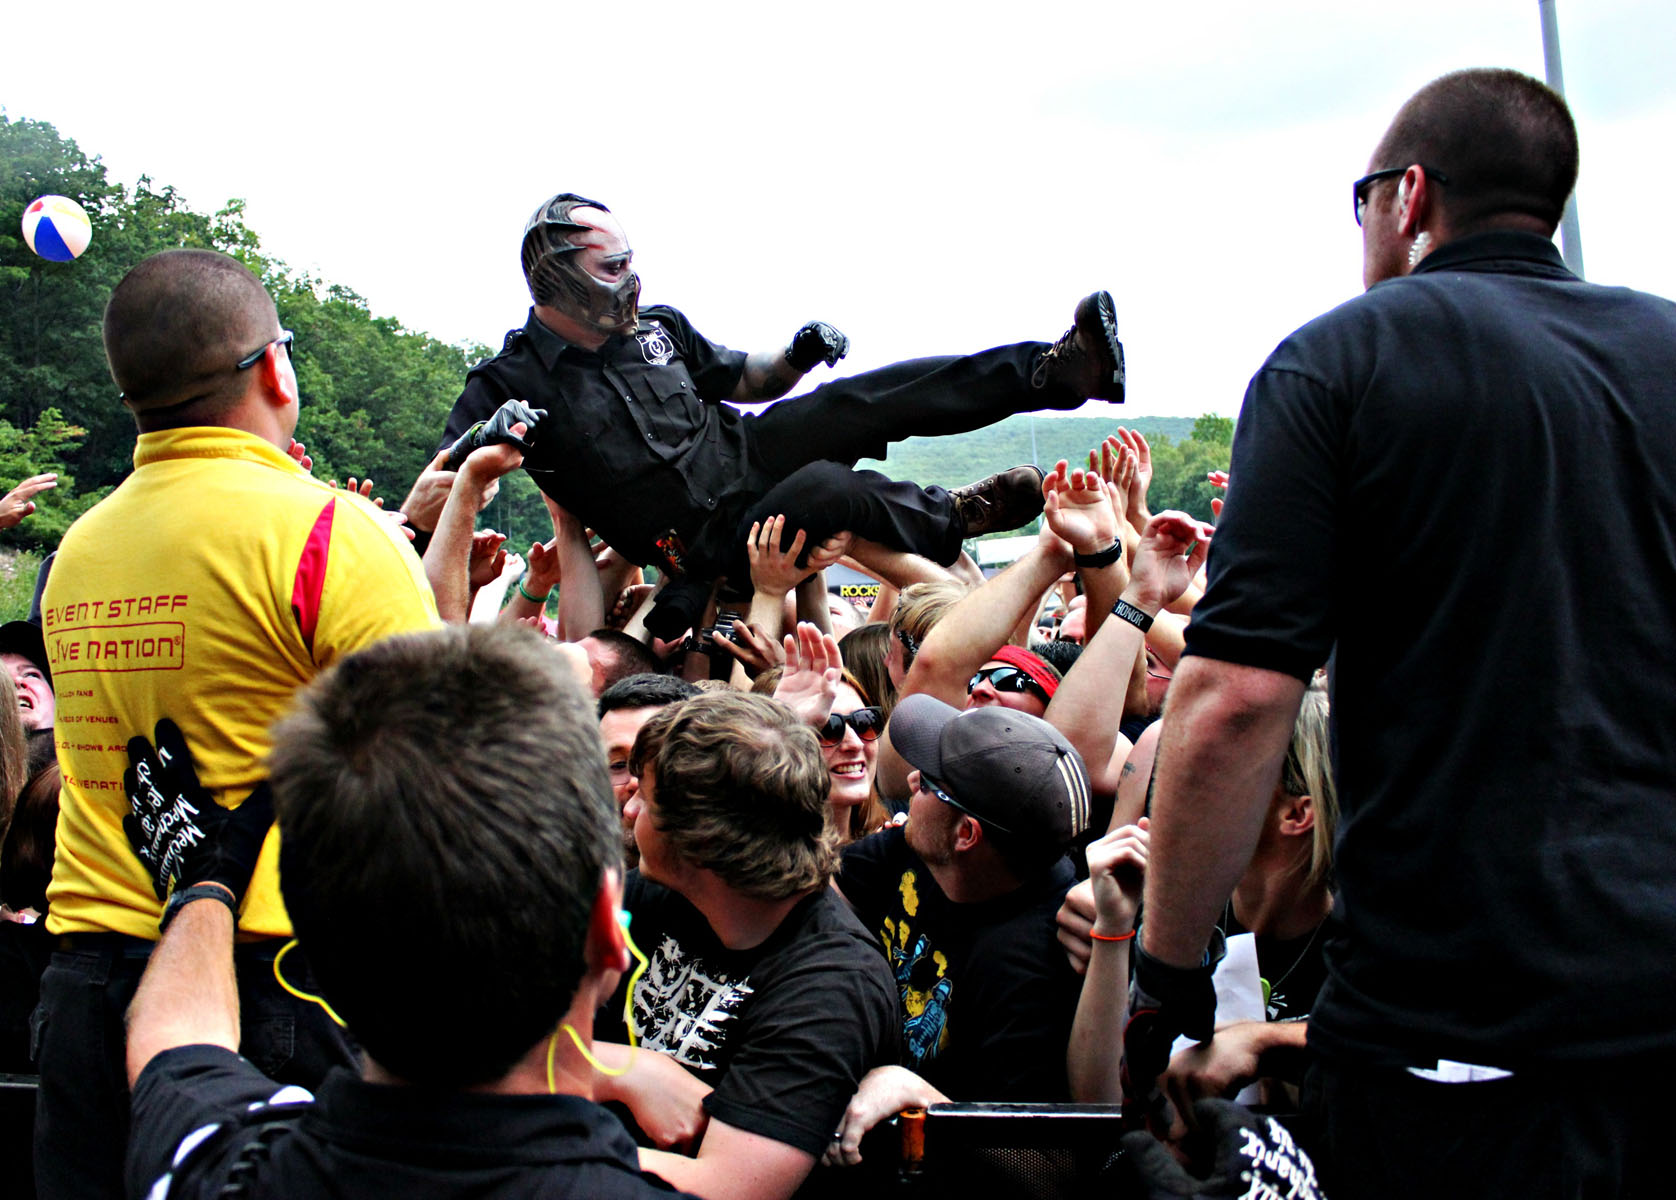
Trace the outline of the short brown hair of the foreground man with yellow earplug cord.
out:
<instances>
[{"instance_id":1,"label":"short brown hair of the foreground man with yellow earplug cord","mask_svg":"<svg viewBox=\"0 0 1676 1200\"><path fill-rule=\"evenodd\" d=\"M592 697L526 628L391 637L302 692L270 768L285 908L355 1037L411 1083L506 1074L622 866Z\"/></svg>"}]
</instances>

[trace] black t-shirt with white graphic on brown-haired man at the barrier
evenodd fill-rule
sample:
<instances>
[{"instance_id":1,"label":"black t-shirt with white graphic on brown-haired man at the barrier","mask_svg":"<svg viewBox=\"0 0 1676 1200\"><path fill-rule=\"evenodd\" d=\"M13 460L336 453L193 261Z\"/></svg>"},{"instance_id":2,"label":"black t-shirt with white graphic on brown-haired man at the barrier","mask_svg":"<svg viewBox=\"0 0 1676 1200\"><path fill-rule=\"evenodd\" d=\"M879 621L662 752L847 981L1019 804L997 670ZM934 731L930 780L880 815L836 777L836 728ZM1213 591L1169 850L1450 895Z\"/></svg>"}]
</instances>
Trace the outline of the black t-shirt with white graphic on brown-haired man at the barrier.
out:
<instances>
[{"instance_id":1,"label":"black t-shirt with white graphic on brown-haired man at the barrier","mask_svg":"<svg viewBox=\"0 0 1676 1200\"><path fill-rule=\"evenodd\" d=\"M895 1063L897 989L878 947L831 888L808 897L758 947L731 950L679 893L628 873L623 908L647 955L634 987L644 1049L709 1083L706 1111L820 1155L861 1076ZM625 980L595 1022L627 1041Z\"/></svg>"}]
</instances>

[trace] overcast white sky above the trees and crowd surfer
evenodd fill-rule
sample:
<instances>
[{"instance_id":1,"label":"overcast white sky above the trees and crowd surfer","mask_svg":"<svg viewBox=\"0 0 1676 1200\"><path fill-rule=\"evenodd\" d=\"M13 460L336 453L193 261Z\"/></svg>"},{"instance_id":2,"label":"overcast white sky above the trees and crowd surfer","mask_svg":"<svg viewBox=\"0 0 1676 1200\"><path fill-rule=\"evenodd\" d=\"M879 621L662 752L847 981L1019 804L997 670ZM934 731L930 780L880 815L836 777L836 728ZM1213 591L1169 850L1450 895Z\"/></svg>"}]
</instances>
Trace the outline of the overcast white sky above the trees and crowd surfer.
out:
<instances>
[{"instance_id":1,"label":"overcast white sky above the trees and crowd surfer","mask_svg":"<svg viewBox=\"0 0 1676 1200\"><path fill-rule=\"evenodd\" d=\"M245 198L270 253L411 328L498 345L525 220L580 191L644 302L739 349L830 320L843 370L1051 340L1110 288L1138 416L1235 414L1359 290L1349 183L1415 89L1542 75L1535 0L75 12L72 45L8 47L8 116L201 211ZM1587 275L1676 295L1676 3L1559 22Z\"/></svg>"}]
</instances>

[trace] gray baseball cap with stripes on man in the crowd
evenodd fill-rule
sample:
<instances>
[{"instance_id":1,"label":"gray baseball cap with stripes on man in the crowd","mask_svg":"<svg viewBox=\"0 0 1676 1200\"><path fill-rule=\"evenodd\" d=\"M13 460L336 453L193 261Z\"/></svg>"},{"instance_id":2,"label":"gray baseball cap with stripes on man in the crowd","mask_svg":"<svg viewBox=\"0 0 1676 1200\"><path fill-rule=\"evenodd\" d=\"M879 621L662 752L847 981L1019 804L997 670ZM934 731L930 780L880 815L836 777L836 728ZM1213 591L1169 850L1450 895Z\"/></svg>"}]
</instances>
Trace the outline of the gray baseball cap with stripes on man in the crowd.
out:
<instances>
[{"instance_id":1,"label":"gray baseball cap with stripes on man in the crowd","mask_svg":"<svg viewBox=\"0 0 1676 1200\"><path fill-rule=\"evenodd\" d=\"M890 714L890 744L955 803L1002 833L1069 845L1088 828L1083 756L1041 717L949 707L908 696Z\"/></svg>"}]
</instances>

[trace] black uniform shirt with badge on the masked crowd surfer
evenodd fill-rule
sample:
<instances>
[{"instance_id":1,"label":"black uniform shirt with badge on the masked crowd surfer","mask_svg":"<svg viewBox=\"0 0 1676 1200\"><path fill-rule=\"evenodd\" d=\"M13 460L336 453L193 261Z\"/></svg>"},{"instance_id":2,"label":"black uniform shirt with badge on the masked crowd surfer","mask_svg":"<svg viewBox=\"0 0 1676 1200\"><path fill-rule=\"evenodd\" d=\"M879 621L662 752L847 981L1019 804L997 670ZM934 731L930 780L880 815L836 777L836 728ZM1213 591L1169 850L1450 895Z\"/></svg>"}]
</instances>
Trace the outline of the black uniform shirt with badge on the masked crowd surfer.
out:
<instances>
[{"instance_id":1,"label":"black uniform shirt with badge on the masked crowd surfer","mask_svg":"<svg viewBox=\"0 0 1676 1200\"><path fill-rule=\"evenodd\" d=\"M669 531L689 553L714 555L732 520L773 484L751 459L744 417L721 402L744 360L664 305L642 308L634 334L597 352L568 344L531 310L466 377L442 444L508 399L546 409L525 458L541 491L640 565L664 561L659 540ZM707 530L717 516L724 523Z\"/></svg>"}]
</instances>

